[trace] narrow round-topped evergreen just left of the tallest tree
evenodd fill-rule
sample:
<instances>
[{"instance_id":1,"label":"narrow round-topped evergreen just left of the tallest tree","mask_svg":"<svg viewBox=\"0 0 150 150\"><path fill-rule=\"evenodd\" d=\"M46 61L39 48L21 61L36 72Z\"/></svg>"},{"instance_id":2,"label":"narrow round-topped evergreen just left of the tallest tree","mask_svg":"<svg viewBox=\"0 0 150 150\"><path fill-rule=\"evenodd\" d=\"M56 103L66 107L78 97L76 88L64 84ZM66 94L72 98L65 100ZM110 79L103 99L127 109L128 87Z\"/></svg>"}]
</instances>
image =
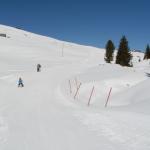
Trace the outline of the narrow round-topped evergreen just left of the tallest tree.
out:
<instances>
[{"instance_id":1,"label":"narrow round-topped evergreen just left of the tallest tree","mask_svg":"<svg viewBox=\"0 0 150 150\"><path fill-rule=\"evenodd\" d=\"M109 40L106 44L106 53L105 53L105 61L110 63L113 61L115 46L111 40Z\"/></svg>"}]
</instances>

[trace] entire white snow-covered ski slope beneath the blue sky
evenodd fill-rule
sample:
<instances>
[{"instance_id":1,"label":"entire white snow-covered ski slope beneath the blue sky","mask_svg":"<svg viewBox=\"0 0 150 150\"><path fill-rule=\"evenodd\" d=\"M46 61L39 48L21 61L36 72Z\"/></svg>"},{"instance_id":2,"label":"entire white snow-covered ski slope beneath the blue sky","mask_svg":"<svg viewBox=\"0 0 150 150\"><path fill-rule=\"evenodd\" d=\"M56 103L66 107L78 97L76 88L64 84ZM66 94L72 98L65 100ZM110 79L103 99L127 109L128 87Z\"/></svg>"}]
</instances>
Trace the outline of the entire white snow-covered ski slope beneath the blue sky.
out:
<instances>
[{"instance_id":1,"label":"entire white snow-covered ski slope beneath the blue sky","mask_svg":"<svg viewBox=\"0 0 150 150\"><path fill-rule=\"evenodd\" d=\"M142 53L127 68L106 64L103 49L3 25L0 33L7 34L0 37L0 150L150 150L150 65Z\"/></svg>"}]
</instances>

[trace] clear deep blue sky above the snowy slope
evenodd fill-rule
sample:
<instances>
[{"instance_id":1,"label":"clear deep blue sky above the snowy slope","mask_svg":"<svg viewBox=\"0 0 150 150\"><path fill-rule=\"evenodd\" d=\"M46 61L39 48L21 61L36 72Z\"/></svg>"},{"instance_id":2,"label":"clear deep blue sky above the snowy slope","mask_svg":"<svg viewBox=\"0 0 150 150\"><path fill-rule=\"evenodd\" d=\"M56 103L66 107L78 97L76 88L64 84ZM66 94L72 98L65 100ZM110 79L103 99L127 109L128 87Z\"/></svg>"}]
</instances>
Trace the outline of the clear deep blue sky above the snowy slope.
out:
<instances>
[{"instance_id":1,"label":"clear deep blue sky above the snowy slope","mask_svg":"<svg viewBox=\"0 0 150 150\"><path fill-rule=\"evenodd\" d=\"M0 24L79 44L131 49L150 43L149 0L0 0Z\"/></svg>"}]
</instances>

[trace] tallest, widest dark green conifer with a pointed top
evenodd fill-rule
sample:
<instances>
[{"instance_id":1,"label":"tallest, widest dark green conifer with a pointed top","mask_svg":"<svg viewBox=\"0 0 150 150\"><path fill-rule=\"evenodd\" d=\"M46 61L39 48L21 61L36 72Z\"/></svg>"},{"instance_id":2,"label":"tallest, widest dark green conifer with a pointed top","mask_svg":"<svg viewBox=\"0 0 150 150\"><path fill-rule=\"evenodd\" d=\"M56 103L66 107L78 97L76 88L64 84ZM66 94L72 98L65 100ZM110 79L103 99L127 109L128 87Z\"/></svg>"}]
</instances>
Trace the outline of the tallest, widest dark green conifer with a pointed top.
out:
<instances>
[{"instance_id":1,"label":"tallest, widest dark green conifer with a pointed top","mask_svg":"<svg viewBox=\"0 0 150 150\"><path fill-rule=\"evenodd\" d=\"M120 40L119 49L116 56L116 64L121 66L132 66L131 63L132 55L128 46L128 41L125 36Z\"/></svg>"}]
</instances>

